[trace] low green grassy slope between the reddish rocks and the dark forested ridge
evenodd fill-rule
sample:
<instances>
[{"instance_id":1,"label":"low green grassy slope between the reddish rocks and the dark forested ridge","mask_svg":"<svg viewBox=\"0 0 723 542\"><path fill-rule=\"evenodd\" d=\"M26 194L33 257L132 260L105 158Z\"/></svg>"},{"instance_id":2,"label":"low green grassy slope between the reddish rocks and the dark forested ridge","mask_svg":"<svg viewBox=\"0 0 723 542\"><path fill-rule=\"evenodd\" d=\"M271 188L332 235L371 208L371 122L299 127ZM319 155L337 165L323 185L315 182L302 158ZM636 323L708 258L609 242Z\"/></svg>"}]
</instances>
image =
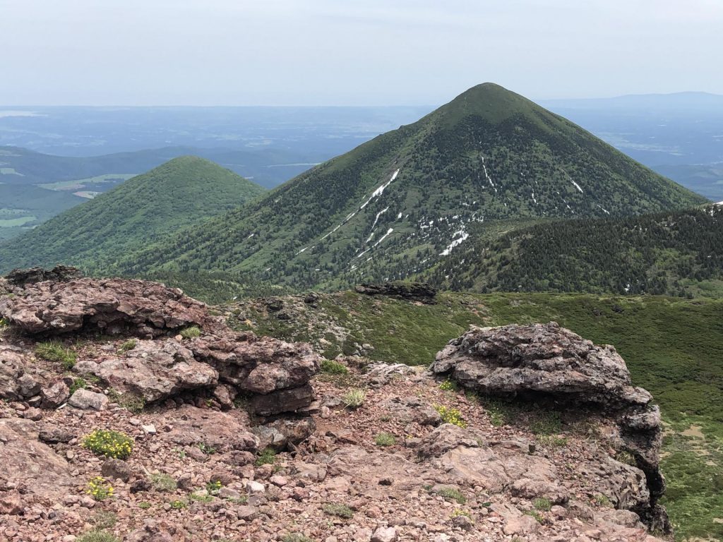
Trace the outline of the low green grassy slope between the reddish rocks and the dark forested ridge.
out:
<instances>
[{"instance_id":1,"label":"low green grassy slope between the reddish rocks and the dark forested ridge","mask_svg":"<svg viewBox=\"0 0 723 542\"><path fill-rule=\"evenodd\" d=\"M289 319L244 302L234 306L231 323L316 343L328 357L368 343L370 358L415 365L429 364L469 324L555 320L594 343L615 345L633 382L653 393L667 423L665 504L677 539L723 536L715 521L723 509L723 300L442 293L436 305L416 305L341 292L322 294L315 308L301 296L284 299ZM339 327L348 333L332 332Z\"/></svg>"}]
</instances>

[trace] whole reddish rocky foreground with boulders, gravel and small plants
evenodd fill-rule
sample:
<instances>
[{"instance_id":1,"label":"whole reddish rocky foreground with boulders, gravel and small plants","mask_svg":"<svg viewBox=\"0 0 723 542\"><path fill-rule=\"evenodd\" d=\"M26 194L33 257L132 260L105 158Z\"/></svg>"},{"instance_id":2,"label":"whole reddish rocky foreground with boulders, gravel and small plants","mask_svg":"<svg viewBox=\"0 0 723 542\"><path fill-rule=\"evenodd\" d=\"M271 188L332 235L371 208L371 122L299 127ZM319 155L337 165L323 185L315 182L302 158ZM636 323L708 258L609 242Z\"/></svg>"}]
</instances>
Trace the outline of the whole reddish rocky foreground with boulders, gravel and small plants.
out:
<instances>
[{"instance_id":1,"label":"whole reddish rocky foreground with boulders, gravel and small plants","mask_svg":"<svg viewBox=\"0 0 723 542\"><path fill-rule=\"evenodd\" d=\"M235 333L154 283L13 282L0 284L0 540L650 542L649 526L667 529L651 397L614 349L555 324L471 330L421 371ZM97 429L132 451L95 454Z\"/></svg>"}]
</instances>

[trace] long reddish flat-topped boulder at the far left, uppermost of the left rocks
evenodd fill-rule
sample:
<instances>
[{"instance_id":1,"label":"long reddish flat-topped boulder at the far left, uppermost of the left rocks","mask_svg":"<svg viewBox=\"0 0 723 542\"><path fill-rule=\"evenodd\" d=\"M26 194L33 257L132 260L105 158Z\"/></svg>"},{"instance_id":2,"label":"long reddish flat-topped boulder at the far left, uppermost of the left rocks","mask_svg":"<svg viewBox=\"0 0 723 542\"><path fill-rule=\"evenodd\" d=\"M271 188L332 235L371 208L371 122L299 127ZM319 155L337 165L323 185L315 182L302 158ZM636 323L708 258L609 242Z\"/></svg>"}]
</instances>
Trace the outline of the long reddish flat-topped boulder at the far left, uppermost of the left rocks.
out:
<instances>
[{"instance_id":1,"label":"long reddish flat-topped boulder at the far left, uppermost of the left rocks","mask_svg":"<svg viewBox=\"0 0 723 542\"><path fill-rule=\"evenodd\" d=\"M26 283L0 300L0 316L31 333L93 328L159 335L189 325L213 325L204 304L147 280L80 278Z\"/></svg>"}]
</instances>

